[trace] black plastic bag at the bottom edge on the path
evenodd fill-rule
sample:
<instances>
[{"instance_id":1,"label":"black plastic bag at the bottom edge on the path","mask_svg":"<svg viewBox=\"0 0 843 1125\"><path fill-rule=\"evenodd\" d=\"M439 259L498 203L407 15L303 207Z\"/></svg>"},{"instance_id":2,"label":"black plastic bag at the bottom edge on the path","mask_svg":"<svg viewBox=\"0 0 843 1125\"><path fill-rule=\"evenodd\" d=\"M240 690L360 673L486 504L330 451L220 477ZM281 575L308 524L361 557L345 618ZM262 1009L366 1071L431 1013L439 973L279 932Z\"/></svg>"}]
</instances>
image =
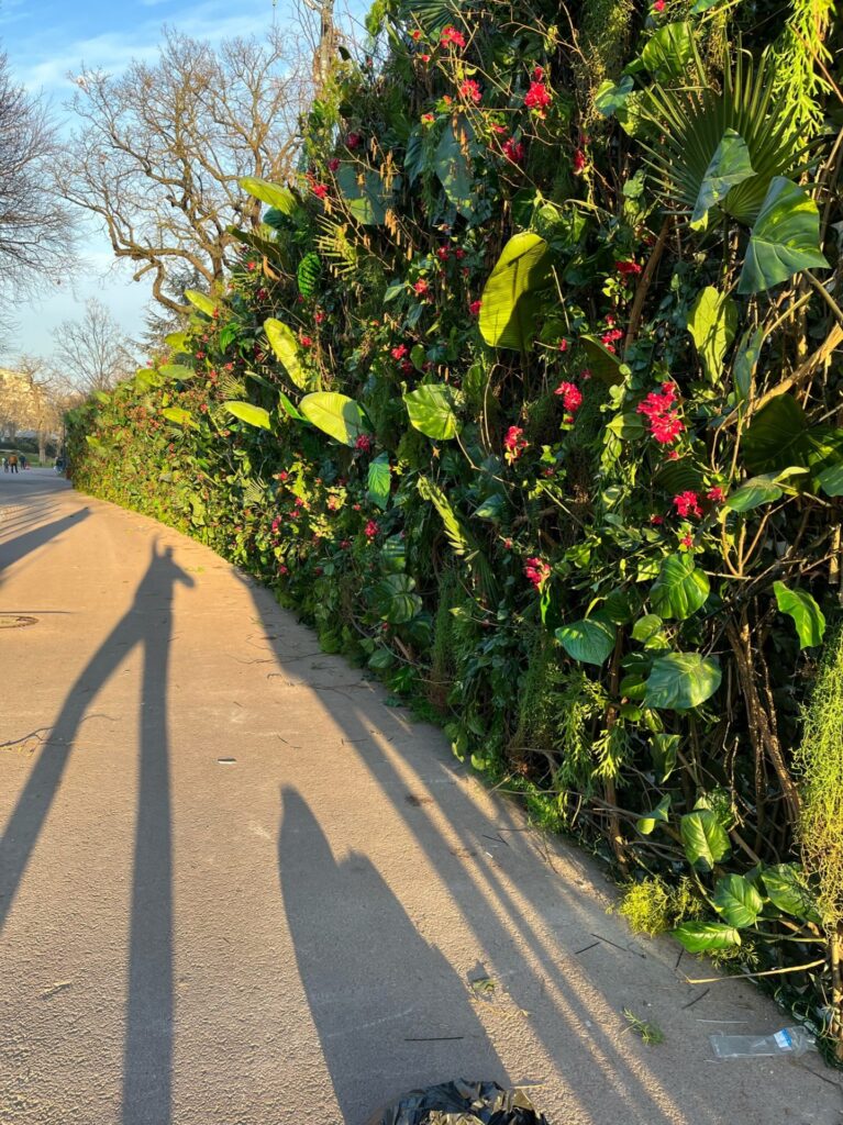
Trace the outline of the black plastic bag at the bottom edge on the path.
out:
<instances>
[{"instance_id":1,"label":"black plastic bag at the bottom edge on the path","mask_svg":"<svg viewBox=\"0 0 843 1125\"><path fill-rule=\"evenodd\" d=\"M548 1125L521 1090L496 1082L442 1082L411 1090L382 1109L369 1125Z\"/></svg>"}]
</instances>

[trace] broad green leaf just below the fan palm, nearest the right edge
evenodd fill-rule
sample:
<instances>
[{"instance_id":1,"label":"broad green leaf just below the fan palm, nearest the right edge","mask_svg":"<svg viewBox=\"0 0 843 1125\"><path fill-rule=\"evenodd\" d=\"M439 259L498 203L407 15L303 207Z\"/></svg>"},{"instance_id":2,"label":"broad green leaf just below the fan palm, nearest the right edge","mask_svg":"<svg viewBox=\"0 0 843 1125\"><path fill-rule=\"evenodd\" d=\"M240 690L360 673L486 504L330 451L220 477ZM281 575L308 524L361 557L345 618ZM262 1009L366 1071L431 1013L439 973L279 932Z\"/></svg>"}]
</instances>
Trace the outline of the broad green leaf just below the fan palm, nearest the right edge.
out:
<instances>
[{"instance_id":1,"label":"broad green leaf just below the fan palm, nearest the right edge","mask_svg":"<svg viewBox=\"0 0 843 1125\"><path fill-rule=\"evenodd\" d=\"M798 183L774 176L750 235L737 291L762 292L800 270L827 266L817 205Z\"/></svg>"}]
</instances>

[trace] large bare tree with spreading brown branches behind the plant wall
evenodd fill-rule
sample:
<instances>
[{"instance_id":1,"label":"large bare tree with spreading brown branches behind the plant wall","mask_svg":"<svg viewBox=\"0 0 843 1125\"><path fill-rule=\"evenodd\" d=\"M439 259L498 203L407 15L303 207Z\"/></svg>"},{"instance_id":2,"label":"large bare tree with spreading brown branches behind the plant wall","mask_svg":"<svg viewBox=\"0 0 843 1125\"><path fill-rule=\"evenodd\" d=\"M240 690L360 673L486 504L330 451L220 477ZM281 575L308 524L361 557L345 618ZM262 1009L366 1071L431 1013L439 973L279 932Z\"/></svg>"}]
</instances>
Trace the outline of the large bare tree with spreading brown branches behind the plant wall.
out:
<instances>
[{"instance_id":1,"label":"large bare tree with spreading brown branches behind the plant wall","mask_svg":"<svg viewBox=\"0 0 843 1125\"><path fill-rule=\"evenodd\" d=\"M170 30L154 65L83 72L77 84L81 125L60 190L101 220L135 280L151 273L155 299L181 310L168 278L189 269L213 287L236 245L227 227L260 223L237 180L283 180L292 169L308 89L297 39L273 33L215 51Z\"/></svg>"}]
</instances>

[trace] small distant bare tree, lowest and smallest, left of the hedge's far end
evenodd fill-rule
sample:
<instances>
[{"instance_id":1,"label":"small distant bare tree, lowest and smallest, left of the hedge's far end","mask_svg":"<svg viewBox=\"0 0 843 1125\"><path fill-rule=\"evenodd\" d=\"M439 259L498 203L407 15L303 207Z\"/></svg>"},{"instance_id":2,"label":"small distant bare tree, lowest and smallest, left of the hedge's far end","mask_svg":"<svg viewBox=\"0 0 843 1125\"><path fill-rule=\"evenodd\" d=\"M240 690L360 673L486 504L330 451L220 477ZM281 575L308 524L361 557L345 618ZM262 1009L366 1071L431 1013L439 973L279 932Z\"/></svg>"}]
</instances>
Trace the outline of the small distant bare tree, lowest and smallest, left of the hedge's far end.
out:
<instances>
[{"instance_id":1,"label":"small distant bare tree, lowest and smallest, left of the hedge's far end","mask_svg":"<svg viewBox=\"0 0 843 1125\"><path fill-rule=\"evenodd\" d=\"M63 321L55 333L55 363L86 394L110 390L137 367L133 343L96 297L81 321Z\"/></svg>"}]
</instances>

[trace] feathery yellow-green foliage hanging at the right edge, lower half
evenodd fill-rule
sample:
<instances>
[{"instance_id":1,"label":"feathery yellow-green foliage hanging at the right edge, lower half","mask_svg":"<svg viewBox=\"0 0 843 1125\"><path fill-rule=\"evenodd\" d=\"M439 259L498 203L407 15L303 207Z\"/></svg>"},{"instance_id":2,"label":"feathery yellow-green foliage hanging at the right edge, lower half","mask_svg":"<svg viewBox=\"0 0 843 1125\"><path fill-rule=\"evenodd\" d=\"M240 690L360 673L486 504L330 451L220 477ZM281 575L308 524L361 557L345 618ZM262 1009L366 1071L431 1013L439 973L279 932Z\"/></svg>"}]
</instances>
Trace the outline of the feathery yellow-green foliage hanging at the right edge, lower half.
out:
<instances>
[{"instance_id":1,"label":"feathery yellow-green foliage hanging at the right edge, lower half","mask_svg":"<svg viewBox=\"0 0 843 1125\"><path fill-rule=\"evenodd\" d=\"M826 646L796 760L802 772L802 862L817 879L819 910L831 930L843 921L843 629Z\"/></svg>"}]
</instances>

